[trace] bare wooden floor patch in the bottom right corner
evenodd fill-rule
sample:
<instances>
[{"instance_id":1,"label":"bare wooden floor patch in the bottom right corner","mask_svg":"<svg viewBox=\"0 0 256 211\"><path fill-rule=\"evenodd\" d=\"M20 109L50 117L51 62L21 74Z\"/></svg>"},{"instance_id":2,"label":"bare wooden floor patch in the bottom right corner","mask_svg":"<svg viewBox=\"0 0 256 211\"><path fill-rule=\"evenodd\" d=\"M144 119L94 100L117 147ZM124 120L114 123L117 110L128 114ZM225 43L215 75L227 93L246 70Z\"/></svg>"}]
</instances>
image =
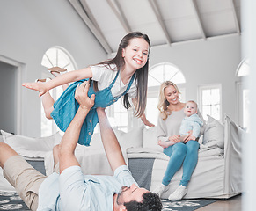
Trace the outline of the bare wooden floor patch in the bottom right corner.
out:
<instances>
[{"instance_id":1,"label":"bare wooden floor patch in the bottom right corner","mask_svg":"<svg viewBox=\"0 0 256 211\"><path fill-rule=\"evenodd\" d=\"M196 209L196 211L241 211L241 195L234 196L229 200L218 200L208 206Z\"/></svg>"}]
</instances>

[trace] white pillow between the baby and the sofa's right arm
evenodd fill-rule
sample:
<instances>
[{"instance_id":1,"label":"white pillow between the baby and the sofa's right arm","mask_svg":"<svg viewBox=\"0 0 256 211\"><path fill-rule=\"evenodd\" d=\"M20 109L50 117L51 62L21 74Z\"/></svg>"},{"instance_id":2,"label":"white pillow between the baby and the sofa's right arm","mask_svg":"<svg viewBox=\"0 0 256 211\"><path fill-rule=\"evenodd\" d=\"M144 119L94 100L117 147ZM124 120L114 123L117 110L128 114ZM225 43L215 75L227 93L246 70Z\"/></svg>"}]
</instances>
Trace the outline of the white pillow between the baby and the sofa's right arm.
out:
<instances>
[{"instance_id":1,"label":"white pillow between the baby and the sofa's right arm","mask_svg":"<svg viewBox=\"0 0 256 211\"><path fill-rule=\"evenodd\" d=\"M224 149L224 126L218 120L208 116L202 144L208 147L219 147Z\"/></svg>"}]
</instances>

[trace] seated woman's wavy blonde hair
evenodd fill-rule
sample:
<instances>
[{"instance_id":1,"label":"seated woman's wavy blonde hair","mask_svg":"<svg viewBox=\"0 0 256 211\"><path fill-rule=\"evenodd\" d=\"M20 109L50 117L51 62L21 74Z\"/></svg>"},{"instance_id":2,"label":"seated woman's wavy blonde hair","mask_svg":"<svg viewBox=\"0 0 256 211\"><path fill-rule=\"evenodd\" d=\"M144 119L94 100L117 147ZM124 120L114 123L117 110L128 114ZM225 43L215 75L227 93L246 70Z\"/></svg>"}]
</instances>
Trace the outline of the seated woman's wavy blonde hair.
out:
<instances>
[{"instance_id":1,"label":"seated woman's wavy blonde hair","mask_svg":"<svg viewBox=\"0 0 256 211\"><path fill-rule=\"evenodd\" d=\"M167 111L167 107L169 106L169 102L167 99L165 99L165 88L168 86L173 86L176 91L180 94L179 88L176 84L174 84L171 81L165 81L164 83L161 84L160 86L160 91L159 91L159 97L158 97L158 110L160 111L160 115L163 118L163 120L166 120L168 115L171 113Z\"/></svg>"}]
</instances>

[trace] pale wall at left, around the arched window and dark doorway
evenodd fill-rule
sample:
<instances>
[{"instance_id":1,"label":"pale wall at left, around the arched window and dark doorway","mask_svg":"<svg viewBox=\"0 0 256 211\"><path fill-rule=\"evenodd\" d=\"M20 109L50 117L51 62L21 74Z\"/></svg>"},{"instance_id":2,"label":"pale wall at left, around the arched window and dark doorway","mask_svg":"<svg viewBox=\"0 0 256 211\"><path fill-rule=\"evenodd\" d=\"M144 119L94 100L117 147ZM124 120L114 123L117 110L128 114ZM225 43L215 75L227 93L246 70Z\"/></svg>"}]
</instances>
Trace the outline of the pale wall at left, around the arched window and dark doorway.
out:
<instances>
[{"instance_id":1,"label":"pale wall at left, around the arched window and dark doorway","mask_svg":"<svg viewBox=\"0 0 256 211\"><path fill-rule=\"evenodd\" d=\"M78 68L106 59L106 52L69 1L1 0L0 27L0 57L24 64L22 82L33 82L46 71L40 62L49 47L67 49ZM35 91L18 85L22 89L21 134L38 136L40 98ZM0 89L6 91L4 84L0 84Z\"/></svg>"}]
</instances>

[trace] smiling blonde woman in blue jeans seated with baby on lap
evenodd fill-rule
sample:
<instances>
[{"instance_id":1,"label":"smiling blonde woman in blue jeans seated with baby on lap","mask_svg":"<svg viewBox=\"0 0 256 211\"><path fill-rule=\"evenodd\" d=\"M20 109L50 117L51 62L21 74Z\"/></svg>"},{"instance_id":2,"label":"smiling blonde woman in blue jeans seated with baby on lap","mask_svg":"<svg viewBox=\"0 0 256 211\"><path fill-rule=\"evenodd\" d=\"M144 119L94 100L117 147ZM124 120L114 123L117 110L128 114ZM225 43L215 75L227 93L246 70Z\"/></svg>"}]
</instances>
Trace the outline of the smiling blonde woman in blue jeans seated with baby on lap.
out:
<instances>
[{"instance_id":1,"label":"smiling blonde woman in blue jeans seated with baby on lap","mask_svg":"<svg viewBox=\"0 0 256 211\"><path fill-rule=\"evenodd\" d=\"M154 191L161 196L168 190L174 174L183 164L183 175L179 187L169 197L169 200L181 200L187 193L187 184L191 178L198 160L198 139L194 140L192 131L187 131L183 142L180 141L179 127L185 117L184 109L186 104L179 101L179 89L176 84L166 81L161 84L158 109L160 111L157 126L158 144L164 148L164 153L170 156L162 184ZM201 113L199 117L203 120ZM201 134L204 130L201 127ZM171 144L172 143L172 144Z\"/></svg>"}]
</instances>

